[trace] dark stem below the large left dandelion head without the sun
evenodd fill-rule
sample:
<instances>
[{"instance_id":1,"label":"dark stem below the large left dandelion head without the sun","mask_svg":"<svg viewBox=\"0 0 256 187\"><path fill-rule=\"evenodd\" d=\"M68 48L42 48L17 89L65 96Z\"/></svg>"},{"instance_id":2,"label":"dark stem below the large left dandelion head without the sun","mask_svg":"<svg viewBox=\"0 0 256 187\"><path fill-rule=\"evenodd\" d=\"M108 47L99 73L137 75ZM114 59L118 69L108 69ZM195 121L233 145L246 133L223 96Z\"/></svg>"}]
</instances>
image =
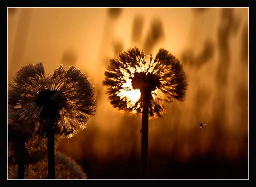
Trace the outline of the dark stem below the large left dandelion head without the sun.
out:
<instances>
[{"instance_id":1,"label":"dark stem below the large left dandelion head without the sun","mask_svg":"<svg viewBox=\"0 0 256 187\"><path fill-rule=\"evenodd\" d=\"M54 132L48 133L48 179L55 179Z\"/></svg>"}]
</instances>

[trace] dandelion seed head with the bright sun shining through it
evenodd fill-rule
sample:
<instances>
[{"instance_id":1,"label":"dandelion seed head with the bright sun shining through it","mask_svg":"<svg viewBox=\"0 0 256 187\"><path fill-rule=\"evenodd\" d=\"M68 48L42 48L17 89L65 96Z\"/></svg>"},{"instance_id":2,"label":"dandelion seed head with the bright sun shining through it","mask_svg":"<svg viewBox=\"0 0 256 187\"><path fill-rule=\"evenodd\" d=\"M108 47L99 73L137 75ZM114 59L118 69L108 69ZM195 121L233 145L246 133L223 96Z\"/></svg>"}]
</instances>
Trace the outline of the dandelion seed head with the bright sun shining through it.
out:
<instances>
[{"instance_id":1,"label":"dandelion seed head with the bright sun shining through it","mask_svg":"<svg viewBox=\"0 0 256 187\"><path fill-rule=\"evenodd\" d=\"M125 114L141 114L142 102L148 104L150 117L162 117L166 112L163 101L184 101L187 80L180 60L161 48L155 59L146 59L137 46L120 52L109 60L103 85L110 104ZM147 101L141 92L149 93Z\"/></svg>"}]
</instances>

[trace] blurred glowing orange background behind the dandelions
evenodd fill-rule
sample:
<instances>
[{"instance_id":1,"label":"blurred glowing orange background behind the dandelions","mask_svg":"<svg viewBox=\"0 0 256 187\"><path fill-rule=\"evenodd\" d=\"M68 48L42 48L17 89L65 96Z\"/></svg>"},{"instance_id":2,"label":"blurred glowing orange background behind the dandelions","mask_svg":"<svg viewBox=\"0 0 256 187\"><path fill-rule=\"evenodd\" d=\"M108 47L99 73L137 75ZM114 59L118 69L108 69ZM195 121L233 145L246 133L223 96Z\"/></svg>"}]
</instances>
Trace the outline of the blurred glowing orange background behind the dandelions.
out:
<instances>
[{"instance_id":1,"label":"blurred glowing orange background behind the dandelions","mask_svg":"<svg viewBox=\"0 0 256 187\"><path fill-rule=\"evenodd\" d=\"M248 8L8 8L8 82L21 66L46 74L76 65L93 83L97 113L57 150L89 179L137 179L141 119L117 113L104 71L117 52L163 47L184 64L185 102L149 121L149 178L248 178ZM133 34L134 33L134 34ZM197 121L208 122L200 131Z\"/></svg>"}]
</instances>

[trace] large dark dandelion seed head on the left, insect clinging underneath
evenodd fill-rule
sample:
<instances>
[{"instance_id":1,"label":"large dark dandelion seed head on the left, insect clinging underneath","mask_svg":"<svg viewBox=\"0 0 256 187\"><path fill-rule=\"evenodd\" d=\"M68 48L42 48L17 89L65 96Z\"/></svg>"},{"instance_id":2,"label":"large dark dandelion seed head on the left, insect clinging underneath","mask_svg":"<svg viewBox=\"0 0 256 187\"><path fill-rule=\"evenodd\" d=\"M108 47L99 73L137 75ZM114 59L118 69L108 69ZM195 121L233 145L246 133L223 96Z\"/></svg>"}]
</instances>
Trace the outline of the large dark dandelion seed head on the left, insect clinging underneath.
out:
<instances>
[{"instance_id":1,"label":"large dark dandelion seed head on the left, insect clinging underneath","mask_svg":"<svg viewBox=\"0 0 256 187\"><path fill-rule=\"evenodd\" d=\"M95 114L96 92L87 76L74 66L62 65L44 75L43 63L20 68L8 85L8 118L21 132L42 138L49 130L72 137ZM71 133L72 132L72 133Z\"/></svg>"}]
</instances>

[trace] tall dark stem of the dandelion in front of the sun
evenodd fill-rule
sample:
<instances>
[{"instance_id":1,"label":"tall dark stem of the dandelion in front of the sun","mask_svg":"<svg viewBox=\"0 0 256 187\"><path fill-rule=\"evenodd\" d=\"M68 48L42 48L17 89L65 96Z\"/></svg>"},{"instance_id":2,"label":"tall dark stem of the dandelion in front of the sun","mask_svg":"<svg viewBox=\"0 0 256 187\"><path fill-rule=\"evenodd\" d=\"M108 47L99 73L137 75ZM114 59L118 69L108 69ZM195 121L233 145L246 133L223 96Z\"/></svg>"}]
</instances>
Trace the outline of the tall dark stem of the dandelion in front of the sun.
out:
<instances>
[{"instance_id":1,"label":"tall dark stem of the dandelion in front of the sun","mask_svg":"<svg viewBox=\"0 0 256 187\"><path fill-rule=\"evenodd\" d=\"M140 152L140 179L148 178L148 95L142 91L142 131L141 131L141 152Z\"/></svg>"}]
</instances>

